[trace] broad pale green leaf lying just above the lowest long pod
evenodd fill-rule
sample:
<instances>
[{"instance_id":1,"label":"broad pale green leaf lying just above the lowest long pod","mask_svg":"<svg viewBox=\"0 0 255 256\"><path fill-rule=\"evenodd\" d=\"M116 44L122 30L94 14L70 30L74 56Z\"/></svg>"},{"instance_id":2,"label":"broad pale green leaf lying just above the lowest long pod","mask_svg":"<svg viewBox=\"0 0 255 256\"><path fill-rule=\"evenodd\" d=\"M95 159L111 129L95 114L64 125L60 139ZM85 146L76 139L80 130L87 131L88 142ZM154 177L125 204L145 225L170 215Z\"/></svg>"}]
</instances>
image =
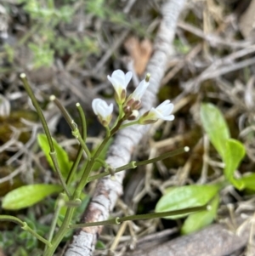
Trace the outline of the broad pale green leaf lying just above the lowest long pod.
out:
<instances>
[{"instance_id":1,"label":"broad pale green leaf lying just above the lowest long pod","mask_svg":"<svg viewBox=\"0 0 255 256\"><path fill-rule=\"evenodd\" d=\"M168 190L156 204L156 213L203 206L219 190L218 185L186 185ZM166 219L179 219L190 213L169 216Z\"/></svg>"}]
</instances>

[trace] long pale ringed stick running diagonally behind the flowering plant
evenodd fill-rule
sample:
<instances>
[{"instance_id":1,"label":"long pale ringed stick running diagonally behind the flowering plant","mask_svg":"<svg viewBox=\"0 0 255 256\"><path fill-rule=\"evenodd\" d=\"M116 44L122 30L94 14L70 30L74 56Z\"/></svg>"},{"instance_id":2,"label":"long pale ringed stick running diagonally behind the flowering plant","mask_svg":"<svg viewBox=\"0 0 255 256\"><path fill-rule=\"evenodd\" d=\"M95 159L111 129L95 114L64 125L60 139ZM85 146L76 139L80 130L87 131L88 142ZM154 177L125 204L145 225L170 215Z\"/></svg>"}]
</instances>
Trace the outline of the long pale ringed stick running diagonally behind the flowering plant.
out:
<instances>
[{"instance_id":1,"label":"long pale ringed stick running diagonally behind the flowering plant","mask_svg":"<svg viewBox=\"0 0 255 256\"><path fill-rule=\"evenodd\" d=\"M175 34L178 15L184 7L185 0L167 1L162 6L162 21L159 28L155 52L150 60L146 72L151 75L150 87L143 97L143 111L149 110L156 102L156 94L159 90L161 79L169 59L169 53L173 52L172 43ZM133 126L121 130L116 134L116 139L111 145L106 162L113 168L120 167L130 161L134 147L147 133L150 126ZM92 201L82 218L82 222L95 222L109 218L116 200L122 195L122 180L124 172L115 175L115 179L105 177L100 179L96 186ZM102 226L85 227L78 230L73 236L71 244L65 251L65 256L88 256L94 252L94 246Z\"/></svg>"}]
</instances>

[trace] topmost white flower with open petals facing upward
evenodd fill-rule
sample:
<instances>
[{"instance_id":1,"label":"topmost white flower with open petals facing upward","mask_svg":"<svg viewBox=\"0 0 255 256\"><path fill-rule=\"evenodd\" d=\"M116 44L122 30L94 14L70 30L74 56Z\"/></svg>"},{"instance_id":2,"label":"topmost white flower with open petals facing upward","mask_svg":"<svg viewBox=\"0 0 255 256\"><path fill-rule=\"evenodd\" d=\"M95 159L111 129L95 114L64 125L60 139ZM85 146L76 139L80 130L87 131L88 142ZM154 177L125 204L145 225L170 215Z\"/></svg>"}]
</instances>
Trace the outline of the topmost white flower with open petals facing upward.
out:
<instances>
[{"instance_id":1,"label":"topmost white flower with open petals facing upward","mask_svg":"<svg viewBox=\"0 0 255 256\"><path fill-rule=\"evenodd\" d=\"M113 71L111 77L107 76L108 80L112 83L113 88L116 92L116 102L122 104L126 100L127 84L130 82L133 74L128 71L125 74L121 70Z\"/></svg>"}]
</instances>

